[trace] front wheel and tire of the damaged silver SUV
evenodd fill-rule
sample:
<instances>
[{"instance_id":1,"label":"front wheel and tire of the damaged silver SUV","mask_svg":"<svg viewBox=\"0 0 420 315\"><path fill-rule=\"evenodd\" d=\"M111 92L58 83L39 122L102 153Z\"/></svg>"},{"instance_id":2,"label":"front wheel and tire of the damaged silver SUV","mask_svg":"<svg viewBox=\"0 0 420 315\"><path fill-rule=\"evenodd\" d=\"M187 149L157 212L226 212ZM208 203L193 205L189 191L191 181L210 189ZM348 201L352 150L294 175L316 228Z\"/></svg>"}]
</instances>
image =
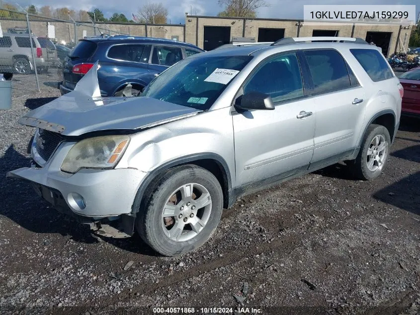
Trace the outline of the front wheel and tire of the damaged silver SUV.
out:
<instances>
[{"instance_id":1,"label":"front wheel and tire of the damaged silver SUV","mask_svg":"<svg viewBox=\"0 0 420 315\"><path fill-rule=\"evenodd\" d=\"M222 188L212 173L195 165L174 167L146 190L136 228L155 251L176 256L197 249L211 237L222 207Z\"/></svg>"}]
</instances>

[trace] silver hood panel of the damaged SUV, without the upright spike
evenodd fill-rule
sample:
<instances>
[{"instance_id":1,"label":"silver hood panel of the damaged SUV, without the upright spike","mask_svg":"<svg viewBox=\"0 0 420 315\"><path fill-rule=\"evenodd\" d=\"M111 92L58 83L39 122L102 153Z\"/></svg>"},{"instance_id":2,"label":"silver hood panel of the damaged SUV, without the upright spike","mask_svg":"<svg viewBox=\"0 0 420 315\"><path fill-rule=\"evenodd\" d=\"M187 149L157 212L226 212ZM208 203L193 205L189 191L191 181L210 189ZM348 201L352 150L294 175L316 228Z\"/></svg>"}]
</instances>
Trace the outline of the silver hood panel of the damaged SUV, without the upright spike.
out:
<instances>
[{"instance_id":1,"label":"silver hood panel of the damaged SUV, without the upright spike","mask_svg":"<svg viewBox=\"0 0 420 315\"><path fill-rule=\"evenodd\" d=\"M79 136L91 131L150 127L200 111L145 97L95 100L73 91L29 111L19 119L19 123Z\"/></svg>"}]
</instances>

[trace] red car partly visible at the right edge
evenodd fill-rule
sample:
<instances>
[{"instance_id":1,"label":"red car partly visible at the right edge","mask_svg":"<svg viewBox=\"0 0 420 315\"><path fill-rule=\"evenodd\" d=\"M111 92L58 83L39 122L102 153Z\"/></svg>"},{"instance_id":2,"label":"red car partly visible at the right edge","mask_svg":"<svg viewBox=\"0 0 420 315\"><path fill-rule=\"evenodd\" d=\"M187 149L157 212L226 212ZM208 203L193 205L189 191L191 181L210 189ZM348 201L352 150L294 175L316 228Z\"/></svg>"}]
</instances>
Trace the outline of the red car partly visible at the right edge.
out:
<instances>
[{"instance_id":1,"label":"red car partly visible at the right edge","mask_svg":"<svg viewBox=\"0 0 420 315\"><path fill-rule=\"evenodd\" d=\"M400 82L404 87L401 112L420 116L420 67L402 74Z\"/></svg>"}]
</instances>

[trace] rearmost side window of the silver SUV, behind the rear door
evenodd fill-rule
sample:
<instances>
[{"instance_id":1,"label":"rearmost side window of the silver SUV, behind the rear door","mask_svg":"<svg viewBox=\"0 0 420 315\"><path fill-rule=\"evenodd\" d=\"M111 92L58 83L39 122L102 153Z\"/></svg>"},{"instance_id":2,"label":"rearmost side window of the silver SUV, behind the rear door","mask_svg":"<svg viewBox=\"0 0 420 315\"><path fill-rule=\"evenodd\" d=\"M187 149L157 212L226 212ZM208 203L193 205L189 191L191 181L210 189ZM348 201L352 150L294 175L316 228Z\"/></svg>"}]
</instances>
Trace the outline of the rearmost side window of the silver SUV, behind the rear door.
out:
<instances>
[{"instance_id":1,"label":"rearmost side window of the silver SUV, behind the rear door","mask_svg":"<svg viewBox=\"0 0 420 315\"><path fill-rule=\"evenodd\" d=\"M374 82L394 77L383 55L376 49L350 49L366 73Z\"/></svg>"}]
</instances>

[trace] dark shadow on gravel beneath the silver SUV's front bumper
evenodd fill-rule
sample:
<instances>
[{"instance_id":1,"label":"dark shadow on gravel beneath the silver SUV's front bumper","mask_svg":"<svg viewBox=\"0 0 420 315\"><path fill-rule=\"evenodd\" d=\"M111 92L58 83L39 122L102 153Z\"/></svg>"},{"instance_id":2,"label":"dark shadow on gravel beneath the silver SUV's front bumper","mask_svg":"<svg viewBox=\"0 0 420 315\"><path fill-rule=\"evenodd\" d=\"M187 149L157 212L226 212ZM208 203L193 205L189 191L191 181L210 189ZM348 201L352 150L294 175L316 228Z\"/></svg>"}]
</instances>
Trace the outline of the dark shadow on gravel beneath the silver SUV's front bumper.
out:
<instances>
[{"instance_id":1,"label":"dark shadow on gravel beneath the silver SUV's front bumper","mask_svg":"<svg viewBox=\"0 0 420 315\"><path fill-rule=\"evenodd\" d=\"M0 215L8 217L21 227L34 233L59 233L80 243L98 243L98 238L121 249L156 256L156 253L137 235L126 239L93 236L90 229L61 214L35 193L31 184L7 178L6 173L30 165L30 158L10 145L0 157Z\"/></svg>"}]
</instances>

